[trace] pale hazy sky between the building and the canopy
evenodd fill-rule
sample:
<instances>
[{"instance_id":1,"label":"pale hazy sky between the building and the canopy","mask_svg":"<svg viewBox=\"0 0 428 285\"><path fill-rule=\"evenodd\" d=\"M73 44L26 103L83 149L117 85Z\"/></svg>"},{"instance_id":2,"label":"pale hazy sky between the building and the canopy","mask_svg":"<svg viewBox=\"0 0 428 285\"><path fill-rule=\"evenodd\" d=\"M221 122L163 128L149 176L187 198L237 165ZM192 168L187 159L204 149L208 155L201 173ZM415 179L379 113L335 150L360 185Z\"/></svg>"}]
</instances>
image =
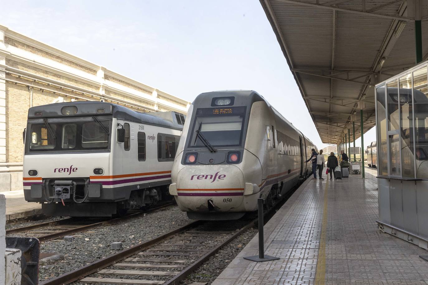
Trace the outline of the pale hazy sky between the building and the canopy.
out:
<instances>
[{"instance_id":1,"label":"pale hazy sky between the building and the canopy","mask_svg":"<svg viewBox=\"0 0 428 285\"><path fill-rule=\"evenodd\" d=\"M256 90L327 146L258 0L16 0L2 8L0 25L190 102L207 91ZM364 146L372 141L374 129Z\"/></svg>"}]
</instances>

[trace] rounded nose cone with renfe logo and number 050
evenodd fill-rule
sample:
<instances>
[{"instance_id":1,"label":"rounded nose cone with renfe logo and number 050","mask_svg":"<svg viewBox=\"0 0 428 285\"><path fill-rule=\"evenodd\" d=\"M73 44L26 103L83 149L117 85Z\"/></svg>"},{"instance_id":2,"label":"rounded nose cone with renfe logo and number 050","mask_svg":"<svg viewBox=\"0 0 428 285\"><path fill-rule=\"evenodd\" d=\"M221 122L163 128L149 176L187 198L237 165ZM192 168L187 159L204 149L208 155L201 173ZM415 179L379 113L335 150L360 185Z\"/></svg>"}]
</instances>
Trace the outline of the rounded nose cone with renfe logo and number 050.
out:
<instances>
[{"instance_id":1,"label":"rounded nose cone with renfe logo and number 050","mask_svg":"<svg viewBox=\"0 0 428 285\"><path fill-rule=\"evenodd\" d=\"M244 175L235 165L192 165L177 175L175 200L183 211L229 212L241 205Z\"/></svg>"}]
</instances>

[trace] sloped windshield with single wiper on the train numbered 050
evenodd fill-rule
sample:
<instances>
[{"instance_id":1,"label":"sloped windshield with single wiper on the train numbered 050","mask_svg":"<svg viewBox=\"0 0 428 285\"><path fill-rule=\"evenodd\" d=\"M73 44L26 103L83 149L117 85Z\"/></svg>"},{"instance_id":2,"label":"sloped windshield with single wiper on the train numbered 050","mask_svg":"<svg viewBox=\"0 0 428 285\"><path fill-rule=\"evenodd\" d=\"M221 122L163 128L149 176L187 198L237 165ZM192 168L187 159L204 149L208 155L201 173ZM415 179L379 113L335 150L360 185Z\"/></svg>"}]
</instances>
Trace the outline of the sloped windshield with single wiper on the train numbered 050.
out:
<instances>
[{"instance_id":1,"label":"sloped windshield with single wiper on the train numbered 050","mask_svg":"<svg viewBox=\"0 0 428 285\"><path fill-rule=\"evenodd\" d=\"M198 109L193 124L189 147L204 147L197 132L212 146L239 146L242 141L245 108L228 109L229 113L217 113L217 109Z\"/></svg>"}]
</instances>

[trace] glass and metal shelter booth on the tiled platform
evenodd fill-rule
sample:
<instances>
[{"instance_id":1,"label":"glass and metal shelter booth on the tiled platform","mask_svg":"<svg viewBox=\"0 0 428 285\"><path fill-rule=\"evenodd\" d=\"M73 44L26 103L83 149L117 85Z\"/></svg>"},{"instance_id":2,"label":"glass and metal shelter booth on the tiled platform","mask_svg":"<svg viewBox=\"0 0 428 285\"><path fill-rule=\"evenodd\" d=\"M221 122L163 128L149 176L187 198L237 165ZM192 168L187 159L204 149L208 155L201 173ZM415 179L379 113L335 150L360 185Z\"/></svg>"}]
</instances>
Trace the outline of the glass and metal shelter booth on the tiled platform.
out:
<instances>
[{"instance_id":1,"label":"glass and metal shelter booth on the tiled platform","mask_svg":"<svg viewBox=\"0 0 428 285\"><path fill-rule=\"evenodd\" d=\"M428 249L428 62L376 85L379 228Z\"/></svg>"}]
</instances>

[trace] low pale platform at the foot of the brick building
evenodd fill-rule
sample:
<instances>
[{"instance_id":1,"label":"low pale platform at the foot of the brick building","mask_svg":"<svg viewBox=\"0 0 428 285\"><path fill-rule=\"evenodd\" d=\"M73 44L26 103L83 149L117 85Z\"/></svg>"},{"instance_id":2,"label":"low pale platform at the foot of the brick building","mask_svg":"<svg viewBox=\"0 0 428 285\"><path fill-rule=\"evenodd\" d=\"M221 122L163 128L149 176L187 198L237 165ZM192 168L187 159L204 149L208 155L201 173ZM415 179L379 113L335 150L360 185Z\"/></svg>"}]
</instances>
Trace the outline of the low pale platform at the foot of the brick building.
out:
<instances>
[{"instance_id":1,"label":"low pale platform at the foot of the brick building","mask_svg":"<svg viewBox=\"0 0 428 285\"><path fill-rule=\"evenodd\" d=\"M6 221L32 217L42 214L42 204L28 203L24 199L24 191L0 192L6 197Z\"/></svg>"}]
</instances>

